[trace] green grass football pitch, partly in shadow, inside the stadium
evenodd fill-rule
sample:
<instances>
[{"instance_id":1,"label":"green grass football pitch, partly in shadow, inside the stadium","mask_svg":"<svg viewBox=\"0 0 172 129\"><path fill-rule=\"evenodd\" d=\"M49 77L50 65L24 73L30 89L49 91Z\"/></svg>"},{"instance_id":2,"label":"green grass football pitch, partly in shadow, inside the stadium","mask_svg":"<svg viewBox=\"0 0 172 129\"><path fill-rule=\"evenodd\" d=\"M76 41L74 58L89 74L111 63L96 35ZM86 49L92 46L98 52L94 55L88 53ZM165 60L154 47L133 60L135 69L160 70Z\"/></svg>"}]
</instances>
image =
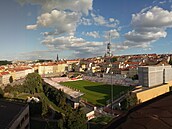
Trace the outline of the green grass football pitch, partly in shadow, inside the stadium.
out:
<instances>
[{"instance_id":1,"label":"green grass football pitch, partly in shadow, inside the stadium","mask_svg":"<svg viewBox=\"0 0 172 129\"><path fill-rule=\"evenodd\" d=\"M106 101L110 99L111 86L98 82L90 82L85 80L73 81L73 82L61 82L61 85L69 86L80 90L85 95L82 97L88 102L97 105L104 106ZM122 91L129 90L129 87L124 86L113 86L114 97L119 95Z\"/></svg>"}]
</instances>

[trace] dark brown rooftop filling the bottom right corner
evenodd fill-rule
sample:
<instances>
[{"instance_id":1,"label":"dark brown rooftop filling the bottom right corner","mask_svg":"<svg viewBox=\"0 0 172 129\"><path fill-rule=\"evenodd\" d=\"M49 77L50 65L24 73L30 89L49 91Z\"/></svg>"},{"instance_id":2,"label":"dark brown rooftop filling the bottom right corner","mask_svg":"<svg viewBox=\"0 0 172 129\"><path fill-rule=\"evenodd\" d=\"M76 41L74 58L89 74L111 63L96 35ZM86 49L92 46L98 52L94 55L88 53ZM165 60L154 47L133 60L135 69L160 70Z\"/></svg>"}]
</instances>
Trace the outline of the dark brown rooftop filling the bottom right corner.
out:
<instances>
[{"instance_id":1,"label":"dark brown rooftop filling the bottom right corner","mask_svg":"<svg viewBox=\"0 0 172 129\"><path fill-rule=\"evenodd\" d=\"M118 120L118 121L117 121ZM172 93L159 96L129 111L106 129L171 129Z\"/></svg>"}]
</instances>

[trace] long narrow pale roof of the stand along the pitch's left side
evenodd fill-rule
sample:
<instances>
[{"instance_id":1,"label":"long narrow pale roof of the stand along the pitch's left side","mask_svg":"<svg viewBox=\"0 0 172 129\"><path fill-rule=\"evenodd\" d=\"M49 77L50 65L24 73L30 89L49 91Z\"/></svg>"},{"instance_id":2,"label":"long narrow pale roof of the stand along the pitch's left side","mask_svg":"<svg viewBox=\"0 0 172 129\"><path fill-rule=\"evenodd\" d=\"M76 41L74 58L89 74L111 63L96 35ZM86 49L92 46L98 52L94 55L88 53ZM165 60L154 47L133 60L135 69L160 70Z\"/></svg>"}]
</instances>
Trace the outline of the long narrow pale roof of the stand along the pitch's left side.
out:
<instances>
[{"instance_id":1,"label":"long narrow pale roof of the stand along the pitch's left side","mask_svg":"<svg viewBox=\"0 0 172 129\"><path fill-rule=\"evenodd\" d=\"M44 81L46 83L50 84L51 86L53 86L54 88L56 88L58 90L62 90L65 94L67 94L73 98L78 98L78 97L81 97L84 95L84 93L82 93L82 92L72 90L66 86L62 86L62 85L58 84L57 82L52 81L51 79L44 78Z\"/></svg>"}]
</instances>

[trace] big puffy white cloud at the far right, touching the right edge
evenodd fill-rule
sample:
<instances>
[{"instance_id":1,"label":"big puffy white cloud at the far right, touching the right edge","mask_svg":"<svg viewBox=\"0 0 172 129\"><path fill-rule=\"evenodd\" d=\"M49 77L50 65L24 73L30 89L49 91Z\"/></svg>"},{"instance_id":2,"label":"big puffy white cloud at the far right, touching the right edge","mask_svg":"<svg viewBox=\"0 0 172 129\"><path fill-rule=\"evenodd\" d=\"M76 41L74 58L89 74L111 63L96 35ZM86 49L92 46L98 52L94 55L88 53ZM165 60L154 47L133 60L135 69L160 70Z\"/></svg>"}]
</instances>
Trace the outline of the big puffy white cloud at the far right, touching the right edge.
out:
<instances>
[{"instance_id":1,"label":"big puffy white cloud at the far right, touching the right edge","mask_svg":"<svg viewBox=\"0 0 172 129\"><path fill-rule=\"evenodd\" d=\"M133 30L125 34L126 41L122 45L128 48L149 47L152 42L167 36L166 29L172 27L172 11L157 6L145 12L142 10L132 15L131 25Z\"/></svg>"}]
</instances>

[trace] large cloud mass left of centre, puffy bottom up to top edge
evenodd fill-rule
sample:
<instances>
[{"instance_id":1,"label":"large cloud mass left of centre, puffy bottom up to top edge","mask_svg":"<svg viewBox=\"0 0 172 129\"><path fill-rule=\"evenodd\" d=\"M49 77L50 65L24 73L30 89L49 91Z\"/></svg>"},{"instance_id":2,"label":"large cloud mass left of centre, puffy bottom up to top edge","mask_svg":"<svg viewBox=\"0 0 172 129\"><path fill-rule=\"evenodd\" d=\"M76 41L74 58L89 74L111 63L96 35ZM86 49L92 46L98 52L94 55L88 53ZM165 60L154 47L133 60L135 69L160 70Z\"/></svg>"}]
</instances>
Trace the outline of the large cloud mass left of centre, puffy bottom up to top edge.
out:
<instances>
[{"instance_id":1,"label":"large cloud mass left of centre, puffy bottom up to top edge","mask_svg":"<svg viewBox=\"0 0 172 129\"><path fill-rule=\"evenodd\" d=\"M75 33L81 17L92 10L93 0L18 0L21 4L35 4L41 6L41 15L35 24L27 25L26 29L51 28L47 35ZM85 24L89 21L84 20ZM44 33L44 32L42 32Z\"/></svg>"}]
</instances>

